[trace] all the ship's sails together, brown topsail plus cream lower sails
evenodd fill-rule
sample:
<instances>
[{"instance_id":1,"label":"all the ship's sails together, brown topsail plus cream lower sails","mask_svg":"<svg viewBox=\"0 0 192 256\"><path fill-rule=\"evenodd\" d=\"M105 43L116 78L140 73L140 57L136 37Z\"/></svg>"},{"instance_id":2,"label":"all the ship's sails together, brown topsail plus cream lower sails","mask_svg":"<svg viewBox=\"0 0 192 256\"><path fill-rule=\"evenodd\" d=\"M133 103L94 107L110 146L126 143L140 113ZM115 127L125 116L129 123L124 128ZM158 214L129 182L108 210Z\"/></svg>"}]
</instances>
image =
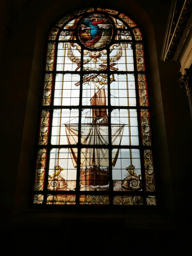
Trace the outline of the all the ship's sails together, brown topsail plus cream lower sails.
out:
<instances>
[{"instance_id":1,"label":"all the ship's sails together, brown topsail plus cream lower sails","mask_svg":"<svg viewBox=\"0 0 192 256\"><path fill-rule=\"evenodd\" d=\"M104 86L90 99L91 105L106 105ZM81 144L83 145L108 145L108 116L106 109L92 109L93 123L81 124ZM102 120L101 120L102 119ZM98 122L99 120L99 122ZM69 145L78 143L78 128L76 124L65 124ZM124 125L111 125L112 145L120 145ZM74 167L77 167L77 153L69 148ZM112 167L115 166L119 149L113 155ZM108 148L81 148L81 167L103 166L109 167Z\"/></svg>"}]
</instances>

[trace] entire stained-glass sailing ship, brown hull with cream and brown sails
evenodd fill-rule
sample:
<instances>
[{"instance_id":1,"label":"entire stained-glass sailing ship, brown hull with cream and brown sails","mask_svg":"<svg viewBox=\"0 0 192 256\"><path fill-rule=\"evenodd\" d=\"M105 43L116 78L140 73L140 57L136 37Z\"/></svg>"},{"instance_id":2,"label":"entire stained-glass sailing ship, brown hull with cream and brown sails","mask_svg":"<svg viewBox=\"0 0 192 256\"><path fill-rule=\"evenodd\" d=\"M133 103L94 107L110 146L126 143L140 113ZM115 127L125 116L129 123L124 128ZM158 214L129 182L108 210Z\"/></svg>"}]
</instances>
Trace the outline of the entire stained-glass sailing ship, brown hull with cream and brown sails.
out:
<instances>
[{"instance_id":1,"label":"entire stained-glass sailing ship, brown hull with cream and brown sails","mask_svg":"<svg viewBox=\"0 0 192 256\"><path fill-rule=\"evenodd\" d=\"M92 117L85 117L92 122L81 123L81 144L93 145L94 148L81 148L80 161L80 182L81 188L91 186L94 190L107 189L109 186L109 154L108 148L96 148L97 145L108 144L108 114L106 108L105 85L94 91L94 96L90 99L92 106L99 106L100 108L93 108ZM86 120L86 119L85 119ZM68 144L77 144L78 142L78 124L65 124ZM124 125L111 124L112 145L120 145L123 135ZM77 167L77 155L69 148L71 159L74 167ZM112 167L115 166L119 149L116 149L113 156ZM91 188L90 188L91 190Z\"/></svg>"}]
</instances>

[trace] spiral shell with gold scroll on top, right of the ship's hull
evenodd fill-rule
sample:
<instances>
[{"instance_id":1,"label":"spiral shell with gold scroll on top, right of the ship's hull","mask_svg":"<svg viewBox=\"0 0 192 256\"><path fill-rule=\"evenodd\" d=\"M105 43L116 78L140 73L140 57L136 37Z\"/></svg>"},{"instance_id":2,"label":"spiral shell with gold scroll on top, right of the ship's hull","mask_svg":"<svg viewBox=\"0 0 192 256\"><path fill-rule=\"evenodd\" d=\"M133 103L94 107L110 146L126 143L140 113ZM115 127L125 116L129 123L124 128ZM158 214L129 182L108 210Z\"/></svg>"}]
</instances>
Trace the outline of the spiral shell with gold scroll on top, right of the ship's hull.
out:
<instances>
[{"instance_id":1,"label":"spiral shell with gold scroll on top, right of the ship's hull","mask_svg":"<svg viewBox=\"0 0 192 256\"><path fill-rule=\"evenodd\" d=\"M137 176L137 174L134 172L135 166L129 165L129 167L126 167L126 170L129 172L130 175L128 175L122 184L122 187L129 188L132 191L137 191L141 188L141 174Z\"/></svg>"}]
</instances>

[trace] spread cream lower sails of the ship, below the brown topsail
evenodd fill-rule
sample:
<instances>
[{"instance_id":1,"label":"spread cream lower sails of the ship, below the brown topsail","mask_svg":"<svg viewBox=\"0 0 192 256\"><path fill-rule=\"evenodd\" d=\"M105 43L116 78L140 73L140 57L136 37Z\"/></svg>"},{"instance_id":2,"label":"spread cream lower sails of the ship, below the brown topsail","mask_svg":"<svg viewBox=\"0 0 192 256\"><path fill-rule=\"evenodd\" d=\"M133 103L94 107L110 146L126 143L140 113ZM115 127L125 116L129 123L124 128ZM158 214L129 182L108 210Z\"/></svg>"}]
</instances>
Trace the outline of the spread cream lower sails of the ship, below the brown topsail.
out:
<instances>
[{"instance_id":1,"label":"spread cream lower sails of the ship, below the brown topsail","mask_svg":"<svg viewBox=\"0 0 192 256\"><path fill-rule=\"evenodd\" d=\"M98 125L98 124L97 124ZM94 129L94 125L81 125L81 142L84 145L107 145L108 144L108 126L97 126ZM123 135L124 125L111 126L112 130L112 145L120 145L122 135ZM94 134L95 131L95 134ZM77 125L68 125L66 124L66 134L68 139L68 144L73 145L78 142L78 126ZM95 144L94 144L95 137ZM70 148L71 158L73 165L77 167L77 155L73 152L73 149ZM112 167L115 166L117 161L117 156L119 154L119 149L116 149ZM85 161L85 156L87 161ZM94 157L95 156L95 157ZM94 165L109 166L108 163L108 149L107 148L82 148L81 149L81 166L90 166Z\"/></svg>"}]
</instances>

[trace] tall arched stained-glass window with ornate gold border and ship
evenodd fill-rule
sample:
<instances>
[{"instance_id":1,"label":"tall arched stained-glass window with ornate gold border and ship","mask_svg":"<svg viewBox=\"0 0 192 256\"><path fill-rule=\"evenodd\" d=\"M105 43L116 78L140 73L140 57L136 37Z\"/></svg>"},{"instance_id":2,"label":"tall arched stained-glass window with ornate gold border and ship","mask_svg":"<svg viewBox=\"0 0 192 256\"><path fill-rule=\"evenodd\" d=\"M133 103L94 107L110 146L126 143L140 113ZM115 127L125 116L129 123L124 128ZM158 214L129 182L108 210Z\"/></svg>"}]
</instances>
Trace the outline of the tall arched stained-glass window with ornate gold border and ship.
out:
<instances>
[{"instance_id":1,"label":"tall arched stained-glass window with ornate gold border and ship","mask_svg":"<svg viewBox=\"0 0 192 256\"><path fill-rule=\"evenodd\" d=\"M138 26L111 9L64 16L43 86L33 204L156 205Z\"/></svg>"}]
</instances>

